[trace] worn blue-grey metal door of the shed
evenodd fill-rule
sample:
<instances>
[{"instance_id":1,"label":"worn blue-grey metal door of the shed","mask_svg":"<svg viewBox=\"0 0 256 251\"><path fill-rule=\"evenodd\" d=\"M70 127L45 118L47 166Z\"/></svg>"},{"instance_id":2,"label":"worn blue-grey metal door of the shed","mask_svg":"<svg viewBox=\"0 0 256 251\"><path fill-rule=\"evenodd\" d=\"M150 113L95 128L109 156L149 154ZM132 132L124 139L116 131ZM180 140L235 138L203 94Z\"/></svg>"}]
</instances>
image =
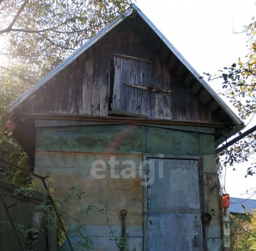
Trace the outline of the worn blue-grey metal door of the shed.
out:
<instances>
[{"instance_id":1,"label":"worn blue-grey metal door of the shed","mask_svg":"<svg viewBox=\"0 0 256 251\"><path fill-rule=\"evenodd\" d=\"M147 158L148 251L202 248L198 160Z\"/></svg>"}]
</instances>

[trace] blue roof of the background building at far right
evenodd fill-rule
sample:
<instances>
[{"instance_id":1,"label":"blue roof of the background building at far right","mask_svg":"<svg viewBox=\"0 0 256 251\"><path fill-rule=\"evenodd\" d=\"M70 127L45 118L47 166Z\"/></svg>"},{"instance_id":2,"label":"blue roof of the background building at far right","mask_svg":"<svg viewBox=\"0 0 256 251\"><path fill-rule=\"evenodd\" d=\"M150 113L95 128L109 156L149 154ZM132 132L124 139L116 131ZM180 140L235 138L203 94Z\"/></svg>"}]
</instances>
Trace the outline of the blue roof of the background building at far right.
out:
<instances>
[{"instance_id":1,"label":"blue roof of the background building at far right","mask_svg":"<svg viewBox=\"0 0 256 251\"><path fill-rule=\"evenodd\" d=\"M229 212L231 213L245 214L246 210L251 212L251 209L256 209L256 200L234 198L234 197L230 197L229 200L230 200Z\"/></svg>"}]
</instances>

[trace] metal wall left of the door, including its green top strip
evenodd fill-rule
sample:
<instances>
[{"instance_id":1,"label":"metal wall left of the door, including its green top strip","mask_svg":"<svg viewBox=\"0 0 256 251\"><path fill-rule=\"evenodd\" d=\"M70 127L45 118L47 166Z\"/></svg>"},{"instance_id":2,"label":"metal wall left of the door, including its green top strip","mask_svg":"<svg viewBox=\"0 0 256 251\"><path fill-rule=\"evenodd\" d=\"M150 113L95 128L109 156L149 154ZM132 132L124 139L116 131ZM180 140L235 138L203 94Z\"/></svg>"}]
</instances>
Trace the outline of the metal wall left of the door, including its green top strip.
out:
<instances>
[{"instance_id":1,"label":"metal wall left of the door, including its green top strip","mask_svg":"<svg viewBox=\"0 0 256 251\"><path fill-rule=\"evenodd\" d=\"M121 236L119 212L126 209L126 235L129 236L127 243L130 250L143 248L143 194L138 167L145 151L144 131L143 126L118 124L46 127L38 128L37 134L35 172L50 175L56 180L52 183L56 189L55 196L63 198L72 186L85 191L80 201L66 204L64 211L73 215L83 211L87 205L102 209L107 203L112 210L109 213L113 215L109 215L110 224L114 225L112 229L116 231L116 236ZM113 179L110 175L108 161L113 156L115 161L120 160L120 164L116 165L112 176L122 174L120 179ZM103 179L92 176L91 165L95 160L103 160L107 164L106 171L97 171L99 175L105 174ZM124 174L129 176L129 170L124 173L129 165L121 163L126 160L135 162L135 178L124 178ZM94 250L119 250L114 241L108 240L111 237L106 215L98 212L76 217L78 223L72 218L66 220L69 232L84 225L86 228L83 234L92 237ZM79 235L73 233L70 239L75 243L79 241ZM68 250L68 246L65 250ZM80 250L79 247L76 250Z\"/></svg>"}]
</instances>

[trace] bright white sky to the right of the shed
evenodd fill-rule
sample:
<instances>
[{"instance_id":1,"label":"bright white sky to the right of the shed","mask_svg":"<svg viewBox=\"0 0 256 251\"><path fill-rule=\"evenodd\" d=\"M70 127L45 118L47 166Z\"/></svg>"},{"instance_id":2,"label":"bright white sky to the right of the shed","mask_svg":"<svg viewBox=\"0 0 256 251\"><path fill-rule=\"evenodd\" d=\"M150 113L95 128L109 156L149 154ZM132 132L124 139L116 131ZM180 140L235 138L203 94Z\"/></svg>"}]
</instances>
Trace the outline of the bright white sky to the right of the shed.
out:
<instances>
[{"instance_id":1,"label":"bright white sky to the right of the shed","mask_svg":"<svg viewBox=\"0 0 256 251\"><path fill-rule=\"evenodd\" d=\"M241 32L251 22L255 0L137 0L135 4L202 76L203 72L216 74L248 53L245 34L234 31ZM221 90L220 81L208 83L216 92ZM252 157L256 159L256 154ZM227 168L226 191L231 197L248 198L246 190L256 187L256 176L245 179L246 164L234 167L235 171Z\"/></svg>"}]
</instances>

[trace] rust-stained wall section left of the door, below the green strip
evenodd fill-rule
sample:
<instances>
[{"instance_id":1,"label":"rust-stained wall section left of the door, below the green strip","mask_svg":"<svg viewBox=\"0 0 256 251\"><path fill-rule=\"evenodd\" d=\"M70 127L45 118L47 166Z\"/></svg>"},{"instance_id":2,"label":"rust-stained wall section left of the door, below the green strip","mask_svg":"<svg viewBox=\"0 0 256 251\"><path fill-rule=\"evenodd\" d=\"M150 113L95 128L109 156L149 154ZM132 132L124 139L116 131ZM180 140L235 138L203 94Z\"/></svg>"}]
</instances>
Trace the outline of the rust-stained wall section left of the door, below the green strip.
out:
<instances>
[{"instance_id":1,"label":"rust-stained wall section left of the door, below the green strip","mask_svg":"<svg viewBox=\"0 0 256 251\"><path fill-rule=\"evenodd\" d=\"M114 159L113 159L114 157ZM113 163L116 164L113 169ZM93 164L95 161L98 164ZM143 217L142 217L142 177L140 163L142 154L137 153L93 153L93 152L57 152L36 151L35 173L50 175L55 182L50 184L56 189L54 195L63 199L72 186L80 187L85 193L80 201L65 204L63 211L68 215L77 214L88 205L95 205L104 209L106 203L110 211L110 224L115 235L121 236L120 210L127 210L126 235L129 250L143 249ZM129 163L133 164L129 164ZM42 166L43 164L47 166ZM103 163L106 163L104 166ZM95 177L96 174L102 177ZM72 242L79 240L79 233L74 232L79 225L85 226L84 235L90 235L95 241L95 250L118 250L109 235L110 229L106 215L101 212L81 214L76 216L79 222L72 217L65 221L69 227ZM64 249L66 250L66 249ZM82 250L77 248L76 250Z\"/></svg>"}]
</instances>

